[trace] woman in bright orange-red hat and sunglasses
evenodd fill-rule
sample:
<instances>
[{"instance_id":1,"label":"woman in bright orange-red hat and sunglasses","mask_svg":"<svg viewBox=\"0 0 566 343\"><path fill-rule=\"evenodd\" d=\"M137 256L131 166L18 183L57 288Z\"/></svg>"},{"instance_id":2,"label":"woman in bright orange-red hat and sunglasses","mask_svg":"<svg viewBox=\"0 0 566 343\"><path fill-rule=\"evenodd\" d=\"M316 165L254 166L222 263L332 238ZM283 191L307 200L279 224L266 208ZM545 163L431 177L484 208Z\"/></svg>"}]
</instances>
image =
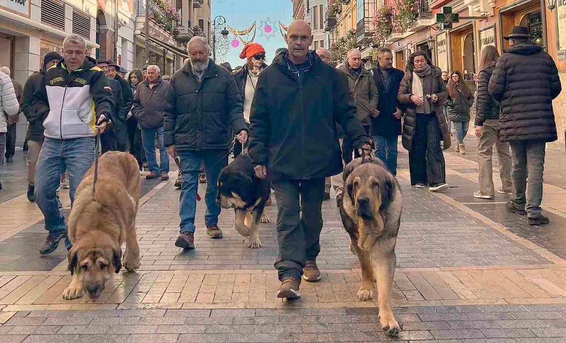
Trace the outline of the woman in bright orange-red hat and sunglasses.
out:
<instances>
[{"instance_id":1,"label":"woman in bright orange-red hat and sunglasses","mask_svg":"<svg viewBox=\"0 0 566 343\"><path fill-rule=\"evenodd\" d=\"M254 100L258 77L267 65L265 64L265 49L259 43L250 43L244 46L240 53L240 58L247 59L246 65L243 66L236 74L234 79L240 90L244 105L244 120L250 124L251 101ZM242 153L243 148L247 148L248 142L242 147L241 144L234 144L234 156Z\"/></svg>"}]
</instances>

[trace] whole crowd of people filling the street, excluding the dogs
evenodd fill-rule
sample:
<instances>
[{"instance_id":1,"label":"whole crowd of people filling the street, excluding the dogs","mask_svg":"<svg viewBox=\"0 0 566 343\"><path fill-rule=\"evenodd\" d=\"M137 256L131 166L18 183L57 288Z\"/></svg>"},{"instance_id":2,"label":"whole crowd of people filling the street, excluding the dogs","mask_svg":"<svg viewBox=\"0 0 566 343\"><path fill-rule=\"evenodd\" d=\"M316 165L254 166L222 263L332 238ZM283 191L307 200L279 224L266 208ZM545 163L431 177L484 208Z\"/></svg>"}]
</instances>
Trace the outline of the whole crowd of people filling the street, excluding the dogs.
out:
<instances>
[{"instance_id":1,"label":"whole crowd of people filling the street, excluding the dogs","mask_svg":"<svg viewBox=\"0 0 566 343\"><path fill-rule=\"evenodd\" d=\"M23 88L9 70L0 71L0 149L6 150L0 159L14 156L21 111L28 121L28 199L45 216L48 235L40 252L49 254L66 238L57 196L62 175L72 204L95 157L97 134L102 152L129 151L140 170L147 166L147 179L168 180L169 157L175 160L181 188L175 246L185 249L195 248L199 182L207 182L207 234L222 238L216 181L230 157L248 153L256 177L269 179L277 201L277 296L295 298L302 279L320 280L321 205L333 188L340 206L343 166L373 153L396 175L401 136L411 186L446 190L443 150L453 144L461 155L471 151L465 138L473 106L479 166L473 196L510 195L508 212L527 215L531 225L548 223L540 207L544 153L546 143L557 139L552 100L561 85L554 61L529 37L527 28L514 27L503 55L484 47L478 75L467 80L461 71L440 70L421 50L409 56L404 71L393 67L387 48L378 50L371 70L358 49L333 67L328 49L309 50L311 28L302 20L289 25L287 46L269 66L255 42L243 48L242 67L217 65L207 40L193 37L184 65L170 77L155 65L126 76L112 61L85 55L84 38L70 35L63 54L46 54ZM494 145L502 185L497 190Z\"/></svg>"}]
</instances>

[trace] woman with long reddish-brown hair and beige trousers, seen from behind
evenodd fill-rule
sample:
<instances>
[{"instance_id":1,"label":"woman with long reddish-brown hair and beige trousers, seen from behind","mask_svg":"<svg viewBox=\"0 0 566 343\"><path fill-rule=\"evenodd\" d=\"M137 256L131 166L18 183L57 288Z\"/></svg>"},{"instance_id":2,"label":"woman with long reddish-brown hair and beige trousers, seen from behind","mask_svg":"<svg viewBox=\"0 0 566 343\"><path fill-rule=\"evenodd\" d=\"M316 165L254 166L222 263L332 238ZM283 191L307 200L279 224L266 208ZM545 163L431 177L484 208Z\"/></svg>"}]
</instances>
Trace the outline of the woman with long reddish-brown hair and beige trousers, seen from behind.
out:
<instances>
[{"instance_id":1,"label":"woman with long reddish-brown hair and beige trousers, seen from behind","mask_svg":"<svg viewBox=\"0 0 566 343\"><path fill-rule=\"evenodd\" d=\"M480 71L478 74L478 98L475 102L475 135L478 138L478 166L479 166L479 191L474 192L474 197L479 199L494 199L495 187L493 180L493 145L497 149L499 160L499 176L501 188L497 191L501 194L513 192L511 182L511 154L509 143L499 140L499 112L498 101L490 96L488 85L491 74L495 69L495 62L499 53L495 46L488 45L482 50L479 59Z\"/></svg>"}]
</instances>

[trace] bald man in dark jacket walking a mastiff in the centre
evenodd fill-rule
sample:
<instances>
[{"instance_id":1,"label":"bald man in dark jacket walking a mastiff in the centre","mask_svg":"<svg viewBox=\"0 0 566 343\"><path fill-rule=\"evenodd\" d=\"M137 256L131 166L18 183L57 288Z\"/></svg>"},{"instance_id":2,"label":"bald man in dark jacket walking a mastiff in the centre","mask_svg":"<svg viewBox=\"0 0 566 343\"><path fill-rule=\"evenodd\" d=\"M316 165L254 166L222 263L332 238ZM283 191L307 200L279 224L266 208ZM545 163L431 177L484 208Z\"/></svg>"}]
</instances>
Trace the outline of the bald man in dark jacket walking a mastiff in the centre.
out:
<instances>
[{"instance_id":1,"label":"bald man in dark jacket walking a mastiff in the centre","mask_svg":"<svg viewBox=\"0 0 566 343\"><path fill-rule=\"evenodd\" d=\"M310 25L295 20L285 40L288 49L259 75L251 107L249 153L256 175L269 175L275 188L279 210L275 267L282 281L277 297L292 299L300 296L303 274L306 281L320 280L316 256L323 225L324 178L342 171L336 123L355 148L367 153L370 146L355 118L346 75L308 51Z\"/></svg>"}]
</instances>

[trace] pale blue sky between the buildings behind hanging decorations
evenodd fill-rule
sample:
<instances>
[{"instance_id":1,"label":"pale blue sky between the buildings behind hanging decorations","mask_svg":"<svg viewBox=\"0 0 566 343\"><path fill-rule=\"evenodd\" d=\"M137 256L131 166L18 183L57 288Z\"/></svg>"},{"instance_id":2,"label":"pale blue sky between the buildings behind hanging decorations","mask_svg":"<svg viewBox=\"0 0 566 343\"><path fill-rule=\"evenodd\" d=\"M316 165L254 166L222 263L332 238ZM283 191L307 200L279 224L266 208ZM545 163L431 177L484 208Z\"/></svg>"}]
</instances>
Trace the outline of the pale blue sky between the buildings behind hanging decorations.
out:
<instances>
[{"instance_id":1,"label":"pale blue sky between the buildings behind hanging decorations","mask_svg":"<svg viewBox=\"0 0 566 343\"><path fill-rule=\"evenodd\" d=\"M290 0L211 0L211 7L211 22L217 15L222 15L226 18L226 24L237 30L246 29L256 22L254 42L263 45L265 48L267 55L265 62L267 64L271 63L277 48L286 46L283 37L281 37L278 22L289 25L293 20L293 3ZM263 26L261 25L262 22ZM273 29L271 36L266 36L263 30L266 23ZM269 31L269 28L267 30ZM250 33L250 38L252 33L253 31ZM245 36L242 38L246 40ZM228 36L230 49L225 57L225 61L230 62L232 68L245 63L245 60L238 56L244 45L239 42L239 45L233 48L231 43L234 39L235 37L230 33Z\"/></svg>"}]
</instances>

